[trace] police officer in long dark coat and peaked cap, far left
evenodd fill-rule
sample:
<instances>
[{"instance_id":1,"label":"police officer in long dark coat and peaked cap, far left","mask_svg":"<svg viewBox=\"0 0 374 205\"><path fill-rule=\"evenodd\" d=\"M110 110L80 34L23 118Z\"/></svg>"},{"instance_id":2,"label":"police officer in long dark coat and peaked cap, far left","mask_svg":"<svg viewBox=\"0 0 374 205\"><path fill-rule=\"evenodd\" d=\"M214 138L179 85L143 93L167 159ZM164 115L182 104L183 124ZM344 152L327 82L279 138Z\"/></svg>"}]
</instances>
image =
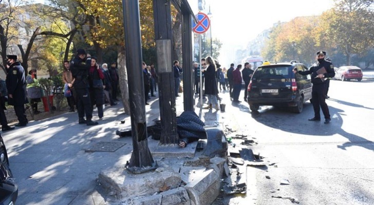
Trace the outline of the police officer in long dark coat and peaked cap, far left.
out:
<instances>
[{"instance_id":1,"label":"police officer in long dark coat and peaked cap, far left","mask_svg":"<svg viewBox=\"0 0 374 205\"><path fill-rule=\"evenodd\" d=\"M7 58L8 74L5 83L8 90L8 105L14 106L18 118L15 126L24 127L28 123L24 106L27 103L25 70L17 61L16 55L7 55Z\"/></svg>"}]
</instances>

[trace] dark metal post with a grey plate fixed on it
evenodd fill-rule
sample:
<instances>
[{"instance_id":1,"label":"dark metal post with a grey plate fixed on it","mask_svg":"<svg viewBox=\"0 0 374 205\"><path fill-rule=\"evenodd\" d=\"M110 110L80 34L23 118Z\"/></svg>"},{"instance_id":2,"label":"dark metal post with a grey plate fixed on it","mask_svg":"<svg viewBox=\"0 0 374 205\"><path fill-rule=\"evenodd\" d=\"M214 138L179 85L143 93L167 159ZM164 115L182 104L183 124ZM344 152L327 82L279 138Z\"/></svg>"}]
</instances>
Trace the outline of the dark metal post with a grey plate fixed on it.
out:
<instances>
[{"instance_id":1,"label":"dark metal post with a grey plate fixed on it","mask_svg":"<svg viewBox=\"0 0 374 205\"><path fill-rule=\"evenodd\" d=\"M159 72L159 107L161 120L161 145L178 146L177 113L172 60L172 17L170 1L153 0L156 47ZM164 46L159 46L162 45ZM162 60L163 59L163 60Z\"/></svg>"}]
</instances>

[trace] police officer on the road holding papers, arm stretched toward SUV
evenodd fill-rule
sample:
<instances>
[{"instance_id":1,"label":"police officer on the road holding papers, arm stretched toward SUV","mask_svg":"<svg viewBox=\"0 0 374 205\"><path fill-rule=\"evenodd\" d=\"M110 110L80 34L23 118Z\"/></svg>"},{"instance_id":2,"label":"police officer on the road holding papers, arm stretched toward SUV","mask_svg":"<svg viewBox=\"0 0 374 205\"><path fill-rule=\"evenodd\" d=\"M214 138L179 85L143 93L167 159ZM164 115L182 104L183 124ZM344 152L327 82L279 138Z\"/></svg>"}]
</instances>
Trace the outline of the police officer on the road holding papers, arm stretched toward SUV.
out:
<instances>
[{"instance_id":1,"label":"police officer on the road holding papers, arm stretched toward SUV","mask_svg":"<svg viewBox=\"0 0 374 205\"><path fill-rule=\"evenodd\" d=\"M310 121L320 121L320 107L322 109L323 115L325 116L325 124L328 124L331 120L329 109L325 102L325 78L330 78L335 75L334 66L325 60L325 51L317 52L318 62L313 64L312 67L307 71L298 71L296 68L293 70L294 73L299 73L301 75L311 74L312 78L312 104L314 109L314 117L308 120ZM321 69L321 70L320 70ZM326 70L326 72L324 72Z\"/></svg>"}]
</instances>

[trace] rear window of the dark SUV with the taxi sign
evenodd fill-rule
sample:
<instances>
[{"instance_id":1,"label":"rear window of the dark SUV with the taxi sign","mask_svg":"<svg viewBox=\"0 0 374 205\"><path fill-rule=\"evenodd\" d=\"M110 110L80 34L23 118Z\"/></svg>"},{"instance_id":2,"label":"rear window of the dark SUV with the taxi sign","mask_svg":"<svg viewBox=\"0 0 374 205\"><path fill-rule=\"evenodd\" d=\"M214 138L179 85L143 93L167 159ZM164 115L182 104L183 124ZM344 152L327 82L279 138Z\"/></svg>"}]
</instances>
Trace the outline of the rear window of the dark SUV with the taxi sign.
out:
<instances>
[{"instance_id":1,"label":"rear window of the dark SUV with the taxi sign","mask_svg":"<svg viewBox=\"0 0 374 205\"><path fill-rule=\"evenodd\" d=\"M254 78L256 79L282 79L291 78L291 73L289 66L278 66L278 67L261 67L257 68L254 73Z\"/></svg>"}]
</instances>

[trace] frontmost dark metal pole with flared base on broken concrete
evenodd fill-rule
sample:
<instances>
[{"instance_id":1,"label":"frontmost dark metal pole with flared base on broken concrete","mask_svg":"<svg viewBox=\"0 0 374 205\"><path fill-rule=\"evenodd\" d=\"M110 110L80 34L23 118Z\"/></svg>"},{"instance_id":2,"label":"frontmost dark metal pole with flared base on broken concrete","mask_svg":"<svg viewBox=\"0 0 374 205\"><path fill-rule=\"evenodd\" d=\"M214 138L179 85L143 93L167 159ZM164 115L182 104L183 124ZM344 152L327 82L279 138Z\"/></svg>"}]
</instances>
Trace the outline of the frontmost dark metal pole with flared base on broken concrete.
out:
<instances>
[{"instance_id":1,"label":"frontmost dark metal pole with flared base on broken concrete","mask_svg":"<svg viewBox=\"0 0 374 205\"><path fill-rule=\"evenodd\" d=\"M145 117L140 15L138 1L122 0L125 30L126 69L130 101L130 119L133 136L133 153L126 168L132 173L143 173L157 168L148 148Z\"/></svg>"}]
</instances>

